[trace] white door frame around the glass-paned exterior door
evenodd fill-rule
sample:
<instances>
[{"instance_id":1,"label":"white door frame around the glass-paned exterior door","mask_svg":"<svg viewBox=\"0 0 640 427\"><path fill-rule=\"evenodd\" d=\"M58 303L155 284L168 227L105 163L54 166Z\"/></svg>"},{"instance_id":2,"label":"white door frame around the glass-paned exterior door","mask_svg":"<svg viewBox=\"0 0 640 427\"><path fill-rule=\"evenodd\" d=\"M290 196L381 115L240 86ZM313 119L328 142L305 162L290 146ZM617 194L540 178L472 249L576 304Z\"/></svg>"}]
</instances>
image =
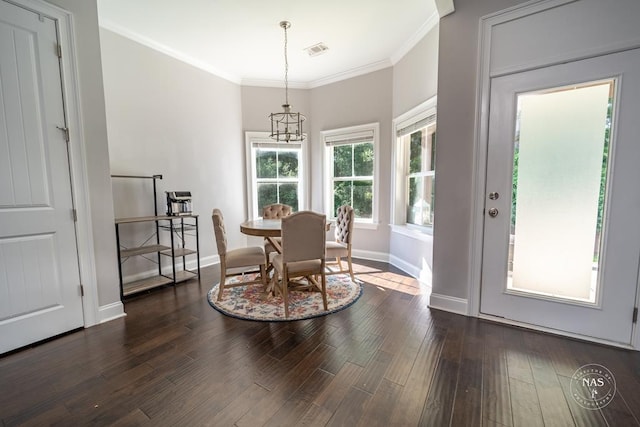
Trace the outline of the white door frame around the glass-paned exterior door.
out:
<instances>
[{"instance_id":1,"label":"white door frame around the glass-paned exterior door","mask_svg":"<svg viewBox=\"0 0 640 427\"><path fill-rule=\"evenodd\" d=\"M494 27L521 19L530 15L537 14L547 9L561 7L565 4L573 3L575 0L535 0L531 2L518 5L513 8L509 8L495 14L491 14L482 17L480 20L480 29L478 37L478 64L477 64L477 80L476 80L476 125L474 129L474 152L475 159L475 173L473 174L473 204L472 204L472 223L471 223L471 245L470 251L470 271L469 283L468 283L468 301L467 301L467 314L474 317L483 317L495 321L502 321L504 323L524 326L518 322L507 321L499 318L485 316L480 313L480 292L482 283L482 246L483 246L483 225L484 225L484 204L485 204L485 177L486 177L486 162L487 162L487 148L489 144L488 131L489 131L489 102L490 102L490 80L492 77L499 75L511 74L515 72L526 71L534 68L540 68L549 65L555 65L567 60L576 61L580 59L593 58L609 53L629 50L640 47L639 40L631 40L620 43L615 48L609 46L608 48L596 47L590 50L583 50L579 55L572 57L554 58L553 61L540 61L538 64L523 64L522 66L516 66L509 68L508 70L502 70L501 72L491 72L491 54L492 44L491 37ZM640 285L636 285L636 306L640 305ZM532 325L526 325L529 328L535 328L541 331L557 333L557 331L551 331L542 327L535 327ZM575 334L566 333L567 336L577 337L584 339L585 337L577 336ZM593 340L593 339L592 339ZM600 341L609 345L626 347L619 343L612 343L609 341ZM638 324L633 325L633 333L631 339L631 348L640 350L640 328Z\"/></svg>"}]
</instances>

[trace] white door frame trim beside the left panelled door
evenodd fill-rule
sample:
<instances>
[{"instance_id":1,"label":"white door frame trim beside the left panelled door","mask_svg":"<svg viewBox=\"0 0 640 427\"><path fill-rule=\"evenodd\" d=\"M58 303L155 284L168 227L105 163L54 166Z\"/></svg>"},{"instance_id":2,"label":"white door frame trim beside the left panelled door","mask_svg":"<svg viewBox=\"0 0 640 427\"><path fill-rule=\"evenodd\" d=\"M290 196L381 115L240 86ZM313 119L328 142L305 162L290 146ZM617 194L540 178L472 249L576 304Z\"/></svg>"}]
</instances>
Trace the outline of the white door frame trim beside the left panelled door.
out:
<instances>
[{"instance_id":1,"label":"white door frame trim beside the left panelled door","mask_svg":"<svg viewBox=\"0 0 640 427\"><path fill-rule=\"evenodd\" d=\"M62 93L70 133L69 167L72 196L77 211L76 239L80 283L84 289L82 310L84 326L100 323L98 283L95 270L93 227L89 203L89 176L86 165L86 142L82 111L80 109L80 88L78 87L78 64L75 47L73 15L59 7L40 0L5 0L16 6L32 10L57 22L59 42L62 48Z\"/></svg>"}]
</instances>

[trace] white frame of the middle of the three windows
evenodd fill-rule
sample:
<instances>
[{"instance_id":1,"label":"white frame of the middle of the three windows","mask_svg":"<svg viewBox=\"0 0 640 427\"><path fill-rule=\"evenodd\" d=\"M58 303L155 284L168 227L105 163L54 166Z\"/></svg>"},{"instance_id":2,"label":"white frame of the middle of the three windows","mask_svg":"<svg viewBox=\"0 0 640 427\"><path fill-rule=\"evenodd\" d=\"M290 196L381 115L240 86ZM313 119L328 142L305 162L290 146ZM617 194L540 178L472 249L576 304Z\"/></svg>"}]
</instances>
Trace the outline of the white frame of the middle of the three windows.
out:
<instances>
[{"instance_id":1,"label":"white frame of the middle of the three windows","mask_svg":"<svg viewBox=\"0 0 640 427\"><path fill-rule=\"evenodd\" d=\"M370 138L373 143L373 175L372 175L372 197L371 202L371 218L355 218L355 226L358 228L377 228L379 223L379 209L378 209L378 181L380 180L380 124L368 123L357 126L349 126L339 129L330 129L320 132L320 140L322 142L323 149L323 164L324 164L324 188L323 188L323 200L324 211L327 215L327 220L335 220L336 212L338 208L333 207L333 154L331 148L336 145L355 145L358 143L367 142L365 139ZM353 142L349 142L353 141ZM357 178L357 177L354 177ZM333 212L332 212L333 211Z\"/></svg>"}]
</instances>

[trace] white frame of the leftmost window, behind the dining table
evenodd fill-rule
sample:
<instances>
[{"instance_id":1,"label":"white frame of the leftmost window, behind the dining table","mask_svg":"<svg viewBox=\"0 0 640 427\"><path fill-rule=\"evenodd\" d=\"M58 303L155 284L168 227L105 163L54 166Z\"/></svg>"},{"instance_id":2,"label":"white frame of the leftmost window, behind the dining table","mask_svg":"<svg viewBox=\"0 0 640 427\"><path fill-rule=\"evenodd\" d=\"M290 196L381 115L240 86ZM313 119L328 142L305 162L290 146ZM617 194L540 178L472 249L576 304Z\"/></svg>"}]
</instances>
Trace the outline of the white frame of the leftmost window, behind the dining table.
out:
<instances>
[{"instance_id":1,"label":"white frame of the leftmost window, behind the dining table","mask_svg":"<svg viewBox=\"0 0 640 427\"><path fill-rule=\"evenodd\" d=\"M304 142L278 142L269 137L269 132L245 132L246 171L247 171L247 218L262 218L262 210L258 206L256 152L259 148L298 149L298 211L305 210L306 203L306 144ZM277 182L277 179L276 179ZM281 183L292 182L286 178Z\"/></svg>"}]
</instances>

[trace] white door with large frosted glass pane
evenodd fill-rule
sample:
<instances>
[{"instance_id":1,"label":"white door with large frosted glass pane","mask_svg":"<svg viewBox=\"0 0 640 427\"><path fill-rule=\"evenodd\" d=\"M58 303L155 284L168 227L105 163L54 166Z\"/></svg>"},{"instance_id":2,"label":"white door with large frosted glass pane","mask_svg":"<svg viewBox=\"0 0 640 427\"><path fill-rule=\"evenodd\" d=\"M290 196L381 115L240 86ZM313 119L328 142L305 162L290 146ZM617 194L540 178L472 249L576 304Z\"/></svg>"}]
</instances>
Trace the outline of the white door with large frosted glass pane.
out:
<instances>
[{"instance_id":1,"label":"white door with large frosted glass pane","mask_svg":"<svg viewBox=\"0 0 640 427\"><path fill-rule=\"evenodd\" d=\"M481 313L631 343L638 117L637 49L491 80Z\"/></svg>"}]
</instances>

